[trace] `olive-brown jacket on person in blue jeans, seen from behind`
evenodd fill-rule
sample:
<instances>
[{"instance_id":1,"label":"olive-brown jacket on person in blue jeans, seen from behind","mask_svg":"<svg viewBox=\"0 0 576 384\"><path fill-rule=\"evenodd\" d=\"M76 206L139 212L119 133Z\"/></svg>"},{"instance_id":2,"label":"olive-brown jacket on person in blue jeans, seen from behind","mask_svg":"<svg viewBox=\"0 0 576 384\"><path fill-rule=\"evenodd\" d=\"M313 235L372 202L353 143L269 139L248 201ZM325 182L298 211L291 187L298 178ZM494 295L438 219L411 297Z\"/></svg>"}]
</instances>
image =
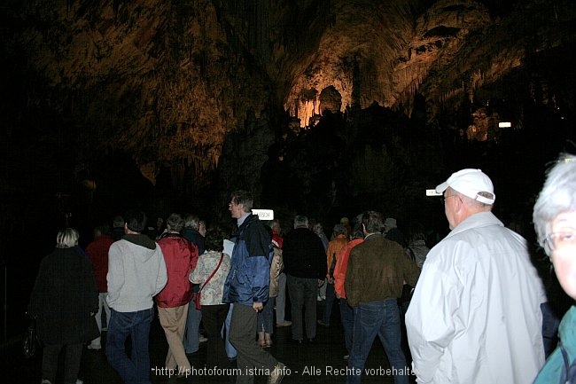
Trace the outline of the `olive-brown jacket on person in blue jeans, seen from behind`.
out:
<instances>
[{"instance_id":1,"label":"olive-brown jacket on person in blue jeans, seen from behind","mask_svg":"<svg viewBox=\"0 0 576 384\"><path fill-rule=\"evenodd\" d=\"M344 285L351 307L401 297L404 281L416 286L420 270L396 242L380 233L366 237L350 251Z\"/></svg>"}]
</instances>

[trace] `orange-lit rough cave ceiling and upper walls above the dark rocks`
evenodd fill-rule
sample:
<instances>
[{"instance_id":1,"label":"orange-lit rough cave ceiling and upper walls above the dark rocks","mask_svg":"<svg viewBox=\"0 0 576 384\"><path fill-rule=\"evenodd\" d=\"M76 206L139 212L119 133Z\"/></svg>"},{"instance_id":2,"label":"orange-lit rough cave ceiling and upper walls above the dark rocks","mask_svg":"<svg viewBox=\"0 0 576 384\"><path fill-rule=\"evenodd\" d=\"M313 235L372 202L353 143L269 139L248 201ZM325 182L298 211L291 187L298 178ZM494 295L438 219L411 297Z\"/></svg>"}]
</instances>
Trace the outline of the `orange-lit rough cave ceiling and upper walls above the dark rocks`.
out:
<instances>
[{"instance_id":1,"label":"orange-lit rough cave ceiling and upper walls above the dark rocks","mask_svg":"<svg viewBox=\"0 0 576 384\"><path fill-rule=\"evenodd\" d=\"M4 137L74 137L77 162L121 150L152 182L162 166L216 167L247 116L304 126L375 103L409 115L422 95L431 121L502 92L576 33L570 0L12 0L1 12Z\"/></svg>"}]
</instances>

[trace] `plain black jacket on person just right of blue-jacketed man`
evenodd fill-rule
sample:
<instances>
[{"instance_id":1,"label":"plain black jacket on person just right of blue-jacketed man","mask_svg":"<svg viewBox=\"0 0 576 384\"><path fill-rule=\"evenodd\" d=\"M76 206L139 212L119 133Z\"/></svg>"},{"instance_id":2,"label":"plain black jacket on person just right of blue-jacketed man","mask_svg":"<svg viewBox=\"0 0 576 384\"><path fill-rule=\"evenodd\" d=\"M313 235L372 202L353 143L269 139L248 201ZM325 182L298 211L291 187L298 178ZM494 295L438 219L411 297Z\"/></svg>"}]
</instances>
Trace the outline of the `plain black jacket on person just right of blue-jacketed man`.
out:
<instances>
[{"instance_id":1,"label":"plain black jacket on person just right of blue-jacketed man","mask_svg":"<svg viewBox=\"0 0 576 384\"><path fill-rule=\"evenodd\" d=\"M296 278L326 277L326 251L322 239L307 228L296 228L284 236L284 272Z\"/></svg>"}]
</instances>

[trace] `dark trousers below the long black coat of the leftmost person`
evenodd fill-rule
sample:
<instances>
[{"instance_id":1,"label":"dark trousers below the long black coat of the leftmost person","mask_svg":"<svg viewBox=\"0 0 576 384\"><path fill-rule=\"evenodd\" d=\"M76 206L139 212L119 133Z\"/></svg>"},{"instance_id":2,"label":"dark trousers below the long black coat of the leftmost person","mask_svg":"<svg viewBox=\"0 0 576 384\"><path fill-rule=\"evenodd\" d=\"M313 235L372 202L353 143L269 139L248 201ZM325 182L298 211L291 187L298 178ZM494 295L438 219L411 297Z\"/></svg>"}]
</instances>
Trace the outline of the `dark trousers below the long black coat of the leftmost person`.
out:
<instances>
[{"instance_id":1,"label":"dark trousers below the long black coat of the leftmost person","mask_svg":"<svg viewBox=\"0 0 576 384\"><path fill-rule=\"evenodd\" d=\"M78 344L47 344L44 346L42 357L42 378L56 382L56 372L58 371L58 355L60 350L65 349L64 357L64 383L75 384L78 380L80 362L82 359L82 342Z\"/></svg>"}]
</instances>

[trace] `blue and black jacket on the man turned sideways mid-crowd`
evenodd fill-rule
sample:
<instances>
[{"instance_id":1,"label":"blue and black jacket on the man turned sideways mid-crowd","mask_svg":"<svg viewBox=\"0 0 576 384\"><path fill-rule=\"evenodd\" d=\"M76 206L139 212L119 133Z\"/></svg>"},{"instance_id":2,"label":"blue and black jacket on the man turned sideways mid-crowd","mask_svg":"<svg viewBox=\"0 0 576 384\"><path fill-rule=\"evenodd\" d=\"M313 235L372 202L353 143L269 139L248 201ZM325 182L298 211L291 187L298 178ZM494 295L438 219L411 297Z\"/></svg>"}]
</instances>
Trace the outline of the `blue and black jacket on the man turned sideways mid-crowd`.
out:
<instances>
[{"instance_id":1,"label":"blue and black jacket on the man turned sideways mid-crowd","mask_svg":"<svg viewBox=\"0 0 576 384\"><path fill-rule=\"evenodd\" d=\"M272 255L269 232L258 216L247 216L238 227L222 302L252 305L253 302L268 301Z\"/></svg>"}]
</instances>

